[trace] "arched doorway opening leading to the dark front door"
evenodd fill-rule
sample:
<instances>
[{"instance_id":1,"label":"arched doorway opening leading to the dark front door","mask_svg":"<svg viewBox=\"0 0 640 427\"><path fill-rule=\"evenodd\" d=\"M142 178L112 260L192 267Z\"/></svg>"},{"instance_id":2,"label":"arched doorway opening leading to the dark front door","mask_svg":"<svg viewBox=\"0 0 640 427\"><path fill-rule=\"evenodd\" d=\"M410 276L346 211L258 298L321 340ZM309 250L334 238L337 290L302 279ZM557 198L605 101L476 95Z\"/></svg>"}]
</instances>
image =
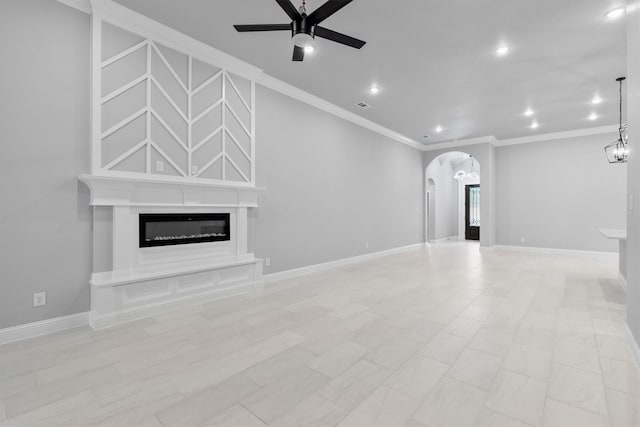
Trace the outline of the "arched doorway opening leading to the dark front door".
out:
<instances>
[{"instance_id":1,"label":"arched doorway opening leading to the dark front door","mask_svg":"<svg viewBox=\"0 0 640 427\"><path fill-rule=\"evenodd\" d=\"M425 170L425 241L479 240L480 163L450 151Z\"/></svg>"}]
</instances>

